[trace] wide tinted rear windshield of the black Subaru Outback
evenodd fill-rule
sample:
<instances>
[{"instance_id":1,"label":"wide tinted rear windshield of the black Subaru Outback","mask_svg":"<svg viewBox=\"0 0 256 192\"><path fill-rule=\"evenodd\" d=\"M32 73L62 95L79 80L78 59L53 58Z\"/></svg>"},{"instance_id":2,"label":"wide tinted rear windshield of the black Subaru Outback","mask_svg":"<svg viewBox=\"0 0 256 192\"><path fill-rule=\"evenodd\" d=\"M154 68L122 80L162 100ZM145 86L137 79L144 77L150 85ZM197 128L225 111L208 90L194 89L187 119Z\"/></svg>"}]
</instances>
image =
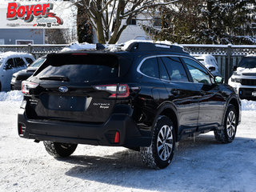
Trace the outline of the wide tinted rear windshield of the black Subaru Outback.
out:
<instances>
[{"instance_id":1,"label":"wide tinted rear windshield of the black Subaru Outback","mask_svg":"<svg viewBox=\"0 0 256 192\"><path fill-rule=\"evenodd\" d=\"M118 59L107 54L63 54L47 58L37 78L63 76L69 82L96 82L118 78Z\"/></svg>"}]
</instances>

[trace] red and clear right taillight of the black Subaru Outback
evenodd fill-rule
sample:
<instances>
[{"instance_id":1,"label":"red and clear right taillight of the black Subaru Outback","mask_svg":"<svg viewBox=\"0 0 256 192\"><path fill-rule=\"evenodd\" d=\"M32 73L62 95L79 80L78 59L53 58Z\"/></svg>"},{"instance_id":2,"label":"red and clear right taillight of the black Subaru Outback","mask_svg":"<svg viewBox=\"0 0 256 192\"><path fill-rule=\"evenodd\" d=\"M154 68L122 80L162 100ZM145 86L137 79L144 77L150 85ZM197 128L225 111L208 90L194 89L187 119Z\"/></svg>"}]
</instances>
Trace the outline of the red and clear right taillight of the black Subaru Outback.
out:
<instances>
[{"instance_id":1,"label":"red and clear right taillight of the black Subaru Outback","mask_svg":"<svg viewBox=\"0 0 256 192\"><path fill-rule=\"evenodd\" d=\"M110 98L127 98L130 94L129 86L126 84L94 86L94 88L96 90L106 90L110 92Z\"/></svg>"}]
</instances>

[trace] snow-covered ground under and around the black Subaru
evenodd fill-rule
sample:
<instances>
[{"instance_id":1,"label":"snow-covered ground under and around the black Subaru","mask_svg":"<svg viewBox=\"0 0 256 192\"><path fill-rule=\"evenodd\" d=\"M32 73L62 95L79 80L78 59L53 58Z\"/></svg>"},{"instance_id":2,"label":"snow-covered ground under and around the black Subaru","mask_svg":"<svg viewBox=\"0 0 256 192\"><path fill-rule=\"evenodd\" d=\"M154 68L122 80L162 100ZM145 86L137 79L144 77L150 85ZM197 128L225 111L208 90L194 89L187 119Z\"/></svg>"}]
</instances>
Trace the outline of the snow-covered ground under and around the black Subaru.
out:
<instances>
[{"instance_id":1,"label":"snow-covered ground under and around the black Subaru","mask_svg":"<svg viewBox=\"0 0 256 192\"><path fill-rule=\"evenodd\" d=\"M183 139L170 166L151 170L123 147L79 145L70 158L52 158L42 142L18 137L20 96L0 94L0 191L256 190L255 102L242 101L234 142L218 144L213 133Z\"/></svg>"}]
</instances>

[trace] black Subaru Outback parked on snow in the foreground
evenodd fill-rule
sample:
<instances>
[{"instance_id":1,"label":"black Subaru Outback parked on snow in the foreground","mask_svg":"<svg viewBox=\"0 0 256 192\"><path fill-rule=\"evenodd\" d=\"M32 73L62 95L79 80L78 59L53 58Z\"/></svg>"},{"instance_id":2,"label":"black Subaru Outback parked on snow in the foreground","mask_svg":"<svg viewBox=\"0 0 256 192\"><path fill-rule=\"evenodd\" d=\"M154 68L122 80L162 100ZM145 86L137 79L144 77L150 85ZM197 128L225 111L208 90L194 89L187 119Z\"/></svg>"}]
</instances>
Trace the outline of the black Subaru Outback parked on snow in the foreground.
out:
<instances>
[{"instance_id":1,"label":"black Subaru Outback parked on snow in the foreground","mask_svg":"<svg viewBox=\"0 0 256 192\"><path fill-rule=\"evenodd\" d=\"M69 156L78 143L125 146L155 168L170 164L182 137L214 130L218 142L234 140L237 94L181 47L98 47L49 54L22 82L20 137L43 141L54 157Z\"/></svg>"}]
</instances>

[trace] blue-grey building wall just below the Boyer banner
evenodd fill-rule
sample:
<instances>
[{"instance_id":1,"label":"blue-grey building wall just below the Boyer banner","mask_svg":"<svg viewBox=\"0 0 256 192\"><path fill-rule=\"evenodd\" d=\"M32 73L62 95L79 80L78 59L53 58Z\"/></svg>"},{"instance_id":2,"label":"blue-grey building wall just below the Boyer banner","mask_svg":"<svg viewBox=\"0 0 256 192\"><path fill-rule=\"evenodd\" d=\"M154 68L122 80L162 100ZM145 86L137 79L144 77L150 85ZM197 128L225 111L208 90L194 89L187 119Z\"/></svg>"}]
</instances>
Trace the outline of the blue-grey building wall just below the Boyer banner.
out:
<instances>
[{"instance_id":1,"label":"blue-grey building wall just below the Boyer banner","mask_svg":"<svg viewBox=\"0 0 256 192\"><path fill-rule=\"evenodd\" d=\"M0 45L45 44L45 31L31 29L0 29Z\"/></svg>"}]
</instances>

